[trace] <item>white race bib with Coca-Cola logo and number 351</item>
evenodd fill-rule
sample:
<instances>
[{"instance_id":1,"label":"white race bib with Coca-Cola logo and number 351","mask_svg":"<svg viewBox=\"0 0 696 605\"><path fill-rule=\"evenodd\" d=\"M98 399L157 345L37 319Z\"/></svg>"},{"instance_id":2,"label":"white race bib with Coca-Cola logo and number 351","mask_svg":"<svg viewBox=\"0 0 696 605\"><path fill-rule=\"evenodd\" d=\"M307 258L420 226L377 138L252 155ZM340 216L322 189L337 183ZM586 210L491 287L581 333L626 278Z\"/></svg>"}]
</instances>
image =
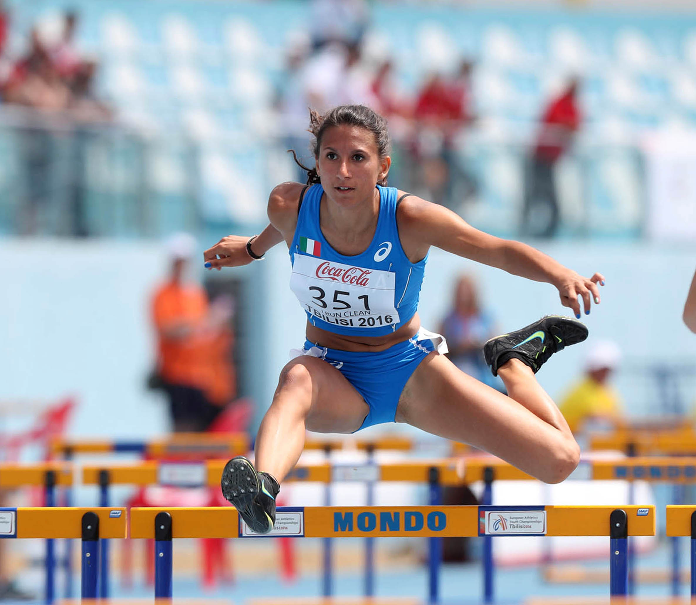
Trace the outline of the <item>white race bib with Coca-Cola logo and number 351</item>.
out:
<instances>
[{"instance_id":1,"label":"white race bib with Coca-Cola logo and number 351","mask_svg":"<svg viewBox=\"0 0 696 605\"><path fill-rule=\"evenodd\" d=\"M290 289L310 315L349 328L399 323L395 273L295 255Z\"/></svg>"}]
</instances>

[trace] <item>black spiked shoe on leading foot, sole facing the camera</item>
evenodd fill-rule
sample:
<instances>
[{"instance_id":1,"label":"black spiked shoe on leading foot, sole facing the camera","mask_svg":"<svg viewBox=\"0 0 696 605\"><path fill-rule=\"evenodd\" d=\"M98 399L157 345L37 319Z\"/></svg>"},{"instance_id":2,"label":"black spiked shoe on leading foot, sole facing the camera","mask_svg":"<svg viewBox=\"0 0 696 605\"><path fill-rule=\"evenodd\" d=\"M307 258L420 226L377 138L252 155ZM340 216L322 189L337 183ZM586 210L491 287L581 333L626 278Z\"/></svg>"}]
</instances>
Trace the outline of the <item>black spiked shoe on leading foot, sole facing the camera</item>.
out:
<instances>
[{"instance_id":1,"label":"black spiked shoe on leading foot, sole facing the camera","mask_svg":"<svg viewBox=\"0 0 696 605\"><path fill-rule=\"evenodd\" d=\"M280 485L268 473L257 472L244 456L232 458L222 471L223 496L232 503L251 531L269 533L276 522Z\"/></svg>"}]
</instances>

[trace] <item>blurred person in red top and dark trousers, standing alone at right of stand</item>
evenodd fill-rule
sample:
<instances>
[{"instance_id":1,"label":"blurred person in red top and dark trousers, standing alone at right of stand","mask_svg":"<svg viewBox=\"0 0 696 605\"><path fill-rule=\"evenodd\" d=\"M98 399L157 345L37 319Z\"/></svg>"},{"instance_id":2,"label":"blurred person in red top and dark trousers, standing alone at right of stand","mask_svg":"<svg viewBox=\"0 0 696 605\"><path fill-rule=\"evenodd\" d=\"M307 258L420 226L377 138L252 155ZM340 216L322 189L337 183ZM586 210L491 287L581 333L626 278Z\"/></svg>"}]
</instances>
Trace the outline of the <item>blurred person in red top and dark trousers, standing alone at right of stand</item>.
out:
<instances>
[{"instance_id":1,"label":"blurred person in red top and dark trousers, standing alone at right of stand","mask_svg":"<svg viewBox=\"0 0 696 605\"><path fill-rule=\"evenodd\" d=\"M541 117L525 186L522 227L528 236L553 237L556 232L559 217L553 170L580 128L579 85L578 79L571 79Z\"/></svg>"}]
</instances>

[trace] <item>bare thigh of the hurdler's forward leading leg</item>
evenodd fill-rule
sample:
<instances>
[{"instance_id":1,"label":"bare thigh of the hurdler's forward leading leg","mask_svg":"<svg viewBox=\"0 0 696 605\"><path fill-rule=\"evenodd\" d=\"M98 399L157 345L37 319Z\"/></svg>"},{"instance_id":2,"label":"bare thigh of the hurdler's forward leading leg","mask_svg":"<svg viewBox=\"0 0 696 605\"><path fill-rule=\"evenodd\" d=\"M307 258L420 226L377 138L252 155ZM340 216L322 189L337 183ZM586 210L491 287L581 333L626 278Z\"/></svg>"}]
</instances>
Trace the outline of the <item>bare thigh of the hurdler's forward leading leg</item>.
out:
<instances>
[{"instance_id":1,"label":"bare thigh of the hurdler's forward leading leg","mask_svg":"<svg viewBox=\"0 0 696 605\"><path fill-rule=\"evenodd\" d=\"M287 380L288 377L292 378ZM305 420L308 430L353 433L370 412L363 396L329 362L309 355L295 357L283 368L276 397L282 396L284 385L292 388L297 379L308 379L311 385L310 407Z\"/></svg>"}]
</instances>

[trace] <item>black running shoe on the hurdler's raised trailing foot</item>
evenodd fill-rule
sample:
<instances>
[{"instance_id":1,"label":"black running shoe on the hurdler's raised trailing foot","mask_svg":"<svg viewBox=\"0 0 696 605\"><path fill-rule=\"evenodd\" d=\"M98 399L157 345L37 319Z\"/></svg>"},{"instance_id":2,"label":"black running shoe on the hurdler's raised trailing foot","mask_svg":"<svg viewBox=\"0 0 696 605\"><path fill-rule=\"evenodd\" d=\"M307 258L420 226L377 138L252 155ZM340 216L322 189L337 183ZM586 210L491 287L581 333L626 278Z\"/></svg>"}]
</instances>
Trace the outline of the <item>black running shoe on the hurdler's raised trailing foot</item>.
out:
<instances>
[{"instance_id":1,"label":"black running shoe on the hurdler's raised trailing foot","mask_svg":"<svg viewBox=\"0 0 696 605\"><path fill-rule=\"evenodd\" d=\"M526 328L491 338L483 346L483 357L493 376L498 376L498 368L512 357L537 373L553 353L586 338L584 323L562 315L547 315Z\"/></svg>"}]
</instances>

